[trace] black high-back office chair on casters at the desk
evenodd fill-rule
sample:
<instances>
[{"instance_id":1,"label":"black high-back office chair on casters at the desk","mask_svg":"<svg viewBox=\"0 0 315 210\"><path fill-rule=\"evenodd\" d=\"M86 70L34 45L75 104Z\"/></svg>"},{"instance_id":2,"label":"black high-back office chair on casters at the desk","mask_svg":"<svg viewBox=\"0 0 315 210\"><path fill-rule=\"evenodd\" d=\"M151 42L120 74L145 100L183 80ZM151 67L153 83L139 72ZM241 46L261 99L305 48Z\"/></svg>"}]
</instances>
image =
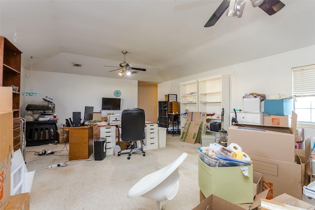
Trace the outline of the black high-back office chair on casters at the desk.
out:
<instances>
[{"instance_id":1,"label":"black high-back office chair on casters at the desk","mask_svg":"<svg viewBox=\"0 0 315 210\"><path fill-rule=\"evenodd\" d=\"M131 145L127 150L118 152L118 156L124 153L129 153L127 159L134 152L141 152L143 156L146 156L143 151L143 140L145 139L144 127L145 127L145 115L144 110L139 108L126 109L122 112L122 141L130 142ZM137 148L137 141L141 142L141 148Z\"/></svg>"}]
</instances>

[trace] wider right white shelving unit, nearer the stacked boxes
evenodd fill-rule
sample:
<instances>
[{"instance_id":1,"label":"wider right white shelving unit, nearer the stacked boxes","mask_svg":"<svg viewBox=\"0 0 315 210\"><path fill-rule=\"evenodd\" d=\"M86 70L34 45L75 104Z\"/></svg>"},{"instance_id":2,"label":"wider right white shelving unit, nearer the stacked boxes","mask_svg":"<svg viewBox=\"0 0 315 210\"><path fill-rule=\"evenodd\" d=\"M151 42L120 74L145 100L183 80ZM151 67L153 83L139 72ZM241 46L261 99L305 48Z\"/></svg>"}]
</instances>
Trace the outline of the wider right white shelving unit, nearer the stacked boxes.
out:
<instances>
[{"instance_id":1,"label":"wider right white shelving unit, nearer the stacked boxes","mask_svg":"<svg viewBox=\"0 0 315 210\"><path fill-rule=\"evenodd\" d=\"M224 109L225 130L229 127L229 75L216 75L212 77L198 79L198 110L213 114L207 117L207 133L209 135L219 136L219 132L210 131L210 123L214 121L221 122L221 112Z\"/></svg>"}]
</instances>

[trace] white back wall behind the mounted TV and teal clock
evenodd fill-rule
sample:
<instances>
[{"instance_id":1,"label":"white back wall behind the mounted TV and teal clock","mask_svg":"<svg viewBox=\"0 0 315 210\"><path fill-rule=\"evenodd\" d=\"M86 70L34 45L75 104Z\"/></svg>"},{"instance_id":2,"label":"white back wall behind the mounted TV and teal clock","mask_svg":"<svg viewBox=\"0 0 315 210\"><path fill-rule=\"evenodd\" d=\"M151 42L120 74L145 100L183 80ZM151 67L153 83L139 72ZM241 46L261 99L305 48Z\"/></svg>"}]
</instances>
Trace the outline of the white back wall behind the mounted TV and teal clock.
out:
<instances>
[{"instance_id":1,"label":"white back wall behind the mounted TV and teal clock","mask_svg":"<svg viewBox=\"0 0 315 210\"><path fill-rule=\"evenodd\" d=\"M30 74L30 78L25 78L25 74ZM65 123L65 119L72 118L72 112L81 112L83 119L85 106L93 106L94 112L99 112L102 97L114 98L114 90L122 92L121 110L114 111L114 114L121 114L124 109L137 107L138 81L136 80L30 70L26 70L25 74L21 75L23 77L21 91L30 91L32 87L33 92L40 92L40 96L21 95L22 117L25 116L26 105L38 104L43 101L42 98L48 96L53 98L56 104L55 114L58 115L57 125L60 127ZM103 111L102 115L106 116L107 111Z\"/></svg>"}]
</instances>

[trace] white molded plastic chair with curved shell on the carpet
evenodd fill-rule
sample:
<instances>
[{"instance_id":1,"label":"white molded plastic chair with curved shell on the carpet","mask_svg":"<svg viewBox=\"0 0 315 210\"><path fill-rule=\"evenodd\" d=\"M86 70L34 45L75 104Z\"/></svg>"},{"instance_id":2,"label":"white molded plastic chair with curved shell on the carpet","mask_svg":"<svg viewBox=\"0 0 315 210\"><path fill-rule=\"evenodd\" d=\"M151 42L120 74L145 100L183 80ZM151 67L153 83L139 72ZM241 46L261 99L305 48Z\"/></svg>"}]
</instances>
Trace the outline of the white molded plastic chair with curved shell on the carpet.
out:
<instances>
[{"instance_id":1,"label":"white molded plastic chair with curved shell on the carpet","mask_svg":"<svg viewBox=\"0 0 315 210\"><path fill-rule=\"evenodd\" d=\"M178 167L188 156L186 152L164 168L139 180L128 191L128 198L138 196L156 201L156 210L162 209L162 201L172 200L178 192ZM163 209L165 206L163 206Z\"/></svg>"}]
</instances>

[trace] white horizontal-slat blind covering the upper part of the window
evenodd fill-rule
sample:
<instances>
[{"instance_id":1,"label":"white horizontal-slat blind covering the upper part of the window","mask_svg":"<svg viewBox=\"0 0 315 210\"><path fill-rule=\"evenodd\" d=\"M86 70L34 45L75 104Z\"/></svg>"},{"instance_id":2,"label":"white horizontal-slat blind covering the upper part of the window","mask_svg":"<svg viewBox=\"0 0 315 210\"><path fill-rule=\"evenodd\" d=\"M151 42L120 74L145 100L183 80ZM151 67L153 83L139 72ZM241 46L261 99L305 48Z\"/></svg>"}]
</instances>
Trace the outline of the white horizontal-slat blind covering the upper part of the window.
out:
<instances>
[{"instance_id":1,"label":"white horizontal-slat blind covering the upper part of the window","mask_svg":"<svg viewBox=\"0 0 315 210\"><path fill-rule=\"evenodd\" d=\"M292 95L315 96L315 64L292 68Z\"/></svg>"}]
</instances>

